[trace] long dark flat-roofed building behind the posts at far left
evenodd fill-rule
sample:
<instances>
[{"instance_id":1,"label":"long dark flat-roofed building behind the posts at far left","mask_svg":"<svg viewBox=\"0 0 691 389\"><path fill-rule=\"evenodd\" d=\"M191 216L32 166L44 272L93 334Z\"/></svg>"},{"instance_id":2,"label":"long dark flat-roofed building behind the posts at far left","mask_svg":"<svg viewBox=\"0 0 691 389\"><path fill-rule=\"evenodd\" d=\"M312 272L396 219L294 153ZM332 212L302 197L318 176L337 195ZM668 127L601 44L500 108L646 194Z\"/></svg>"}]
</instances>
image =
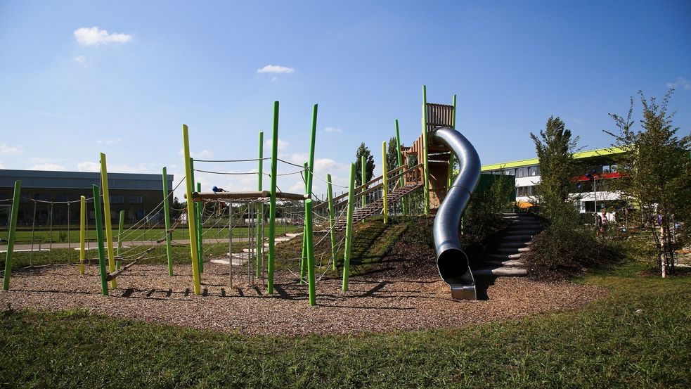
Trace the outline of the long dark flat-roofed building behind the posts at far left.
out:
<instances>
[{"instance_id":1,"label":"long dark flat-roofed building behind the posts at far left","mask_svg":"<svg viewBox=\"0 0 691 389\"><path fill-rule=\"evenodd\" d=\"M7 223L14 183L22 181L18 225L79 223L79 198L93 197L92 185L101 186L97 172L53 172L43 170L0 170L0 223ZM169 193L173 176L166 177ZM117 223L120 211L125 222L138 222L155 210L163 200L163 178L160 174L108 173L110 219ZM162 208L161 208L162 209ZM93 223L93 205L89 200L88 217ZM155 215L154 217L160 217ZM117 225L117 224L115 224Z\"/></svg>"}]
</instances>

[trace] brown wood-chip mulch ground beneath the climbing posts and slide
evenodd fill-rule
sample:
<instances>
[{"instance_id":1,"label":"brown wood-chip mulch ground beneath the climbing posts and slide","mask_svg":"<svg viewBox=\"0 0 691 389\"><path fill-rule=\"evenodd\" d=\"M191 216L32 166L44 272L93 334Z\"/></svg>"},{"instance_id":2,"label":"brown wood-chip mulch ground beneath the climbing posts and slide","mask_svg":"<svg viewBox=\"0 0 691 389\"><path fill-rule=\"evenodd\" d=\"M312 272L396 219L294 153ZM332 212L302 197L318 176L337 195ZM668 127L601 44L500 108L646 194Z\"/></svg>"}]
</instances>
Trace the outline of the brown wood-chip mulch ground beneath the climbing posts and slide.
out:
<instances>
[{"instance_id":1,"label":"brown wood-chip mulch ground beneath the climbing posts and slide","mask_svg":"<svg viewBox=\"0 0 691 389\"><path fill-rule=\"evenodd\" d=\"M248 335L302 336L318 333L385 333L441 329L574 310L607 294L604 288L575 283L545 283L500 278L487 289L488 300L453 300L439 276L423 272L369 272L352 276L349 291L340 279L322 279L316 307L307 286L290 272L276 273L276 293L266 294L261 280L247 281L241 267L205 264L202 295L192 293L191 267L135 265L118 277L118 288L101 295L98 267L79 275L76 266L15 270L11 291L0 291L0 307L13 309L86 309L112 317Z\"/></svg>"}]
</instances>

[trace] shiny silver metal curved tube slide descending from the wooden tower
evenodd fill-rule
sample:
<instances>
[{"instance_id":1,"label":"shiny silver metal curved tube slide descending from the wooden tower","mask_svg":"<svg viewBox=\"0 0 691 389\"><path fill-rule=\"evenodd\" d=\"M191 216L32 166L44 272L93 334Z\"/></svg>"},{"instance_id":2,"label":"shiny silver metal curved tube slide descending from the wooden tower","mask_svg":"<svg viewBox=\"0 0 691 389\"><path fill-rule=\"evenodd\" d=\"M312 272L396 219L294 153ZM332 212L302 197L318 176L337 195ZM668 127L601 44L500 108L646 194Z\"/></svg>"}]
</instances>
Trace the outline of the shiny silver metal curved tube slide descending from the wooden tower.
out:
<instances>
[{"instance_id":1,"label":"shiny silver metal curved tube slide descending from the wooden tower","mask_svg":"<svg viewBox=\"0 0 691 389\"><path fill-rule=\"evenodd\" d=\"M455 129L444 127L432 132L431 135L432 141L448 146L460 162L458 177L446 192L446 197L437 210L437 216L434 217L437 268L441 279L451 287L451 297L477 300L475 280L470 272L468 257L460 245L458 226L480 179L480 158L470 141Z\"/></svg>"}]
</instances>

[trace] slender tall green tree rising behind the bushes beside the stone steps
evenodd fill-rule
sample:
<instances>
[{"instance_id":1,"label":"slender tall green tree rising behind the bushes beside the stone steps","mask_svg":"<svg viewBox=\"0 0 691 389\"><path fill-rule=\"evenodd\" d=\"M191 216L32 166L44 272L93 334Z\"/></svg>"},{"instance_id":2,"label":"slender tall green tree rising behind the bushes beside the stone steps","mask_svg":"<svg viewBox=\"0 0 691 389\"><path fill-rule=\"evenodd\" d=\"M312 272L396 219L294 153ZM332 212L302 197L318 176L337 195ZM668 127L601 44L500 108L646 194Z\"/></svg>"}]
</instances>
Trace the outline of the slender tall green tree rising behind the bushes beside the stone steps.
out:
<instances>
[{"instance_id":1,"label":"slender tall green tree rising behind the bushes beside the stone steps","mask_svg":"<svg viewBox=\"0 0 691 389\"><path fill-rule=\"evenodd\" d=\"M550 116L540 136L530 134L540 160L541 180L536 185L535 192L540 204L540 213L550 222L561 222L563 217L569 219L578 216L573 199L572 179L576 176L576 162L574 149L578 143L578 136L571 139L571 130L557 116Z\"/></svg>"}]
</instances>

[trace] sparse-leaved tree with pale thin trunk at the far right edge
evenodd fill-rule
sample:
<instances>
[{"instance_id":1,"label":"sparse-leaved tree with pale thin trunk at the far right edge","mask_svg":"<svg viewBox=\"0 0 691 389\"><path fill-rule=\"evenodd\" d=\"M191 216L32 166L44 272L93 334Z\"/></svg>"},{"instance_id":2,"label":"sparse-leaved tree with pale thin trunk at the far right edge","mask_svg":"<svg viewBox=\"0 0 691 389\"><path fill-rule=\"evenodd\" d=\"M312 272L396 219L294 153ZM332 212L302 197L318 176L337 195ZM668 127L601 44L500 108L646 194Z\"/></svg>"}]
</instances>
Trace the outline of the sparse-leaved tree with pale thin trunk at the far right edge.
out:
<instances>
[{"instance_id":1,"label":"sparse-leaved tree with pale thin trunk at the far right edge","mask_svg":"<svg viewBox=\"0 0 691 389\"><path fill-rule=\"evenodd\" d=\"M633 96L626 117L610 113L619 133L605 131L614 137L612 146L623 148L617 160L617 170L624 179L619 180L622 197L638 205L642 217L658 219L647 223L657 248L658 265L665 277L674 272L673 241L675 221L689 221L691 196L691 166L689 151L691 135L679 138L678 127L673 127L674 113L667 105L674 89L665 94L661 103L657 98L646 98L638 91L642 105L641 128L633 129ZM643 221L642 221L643 222Z\"/></svg>"}]
</instances>

